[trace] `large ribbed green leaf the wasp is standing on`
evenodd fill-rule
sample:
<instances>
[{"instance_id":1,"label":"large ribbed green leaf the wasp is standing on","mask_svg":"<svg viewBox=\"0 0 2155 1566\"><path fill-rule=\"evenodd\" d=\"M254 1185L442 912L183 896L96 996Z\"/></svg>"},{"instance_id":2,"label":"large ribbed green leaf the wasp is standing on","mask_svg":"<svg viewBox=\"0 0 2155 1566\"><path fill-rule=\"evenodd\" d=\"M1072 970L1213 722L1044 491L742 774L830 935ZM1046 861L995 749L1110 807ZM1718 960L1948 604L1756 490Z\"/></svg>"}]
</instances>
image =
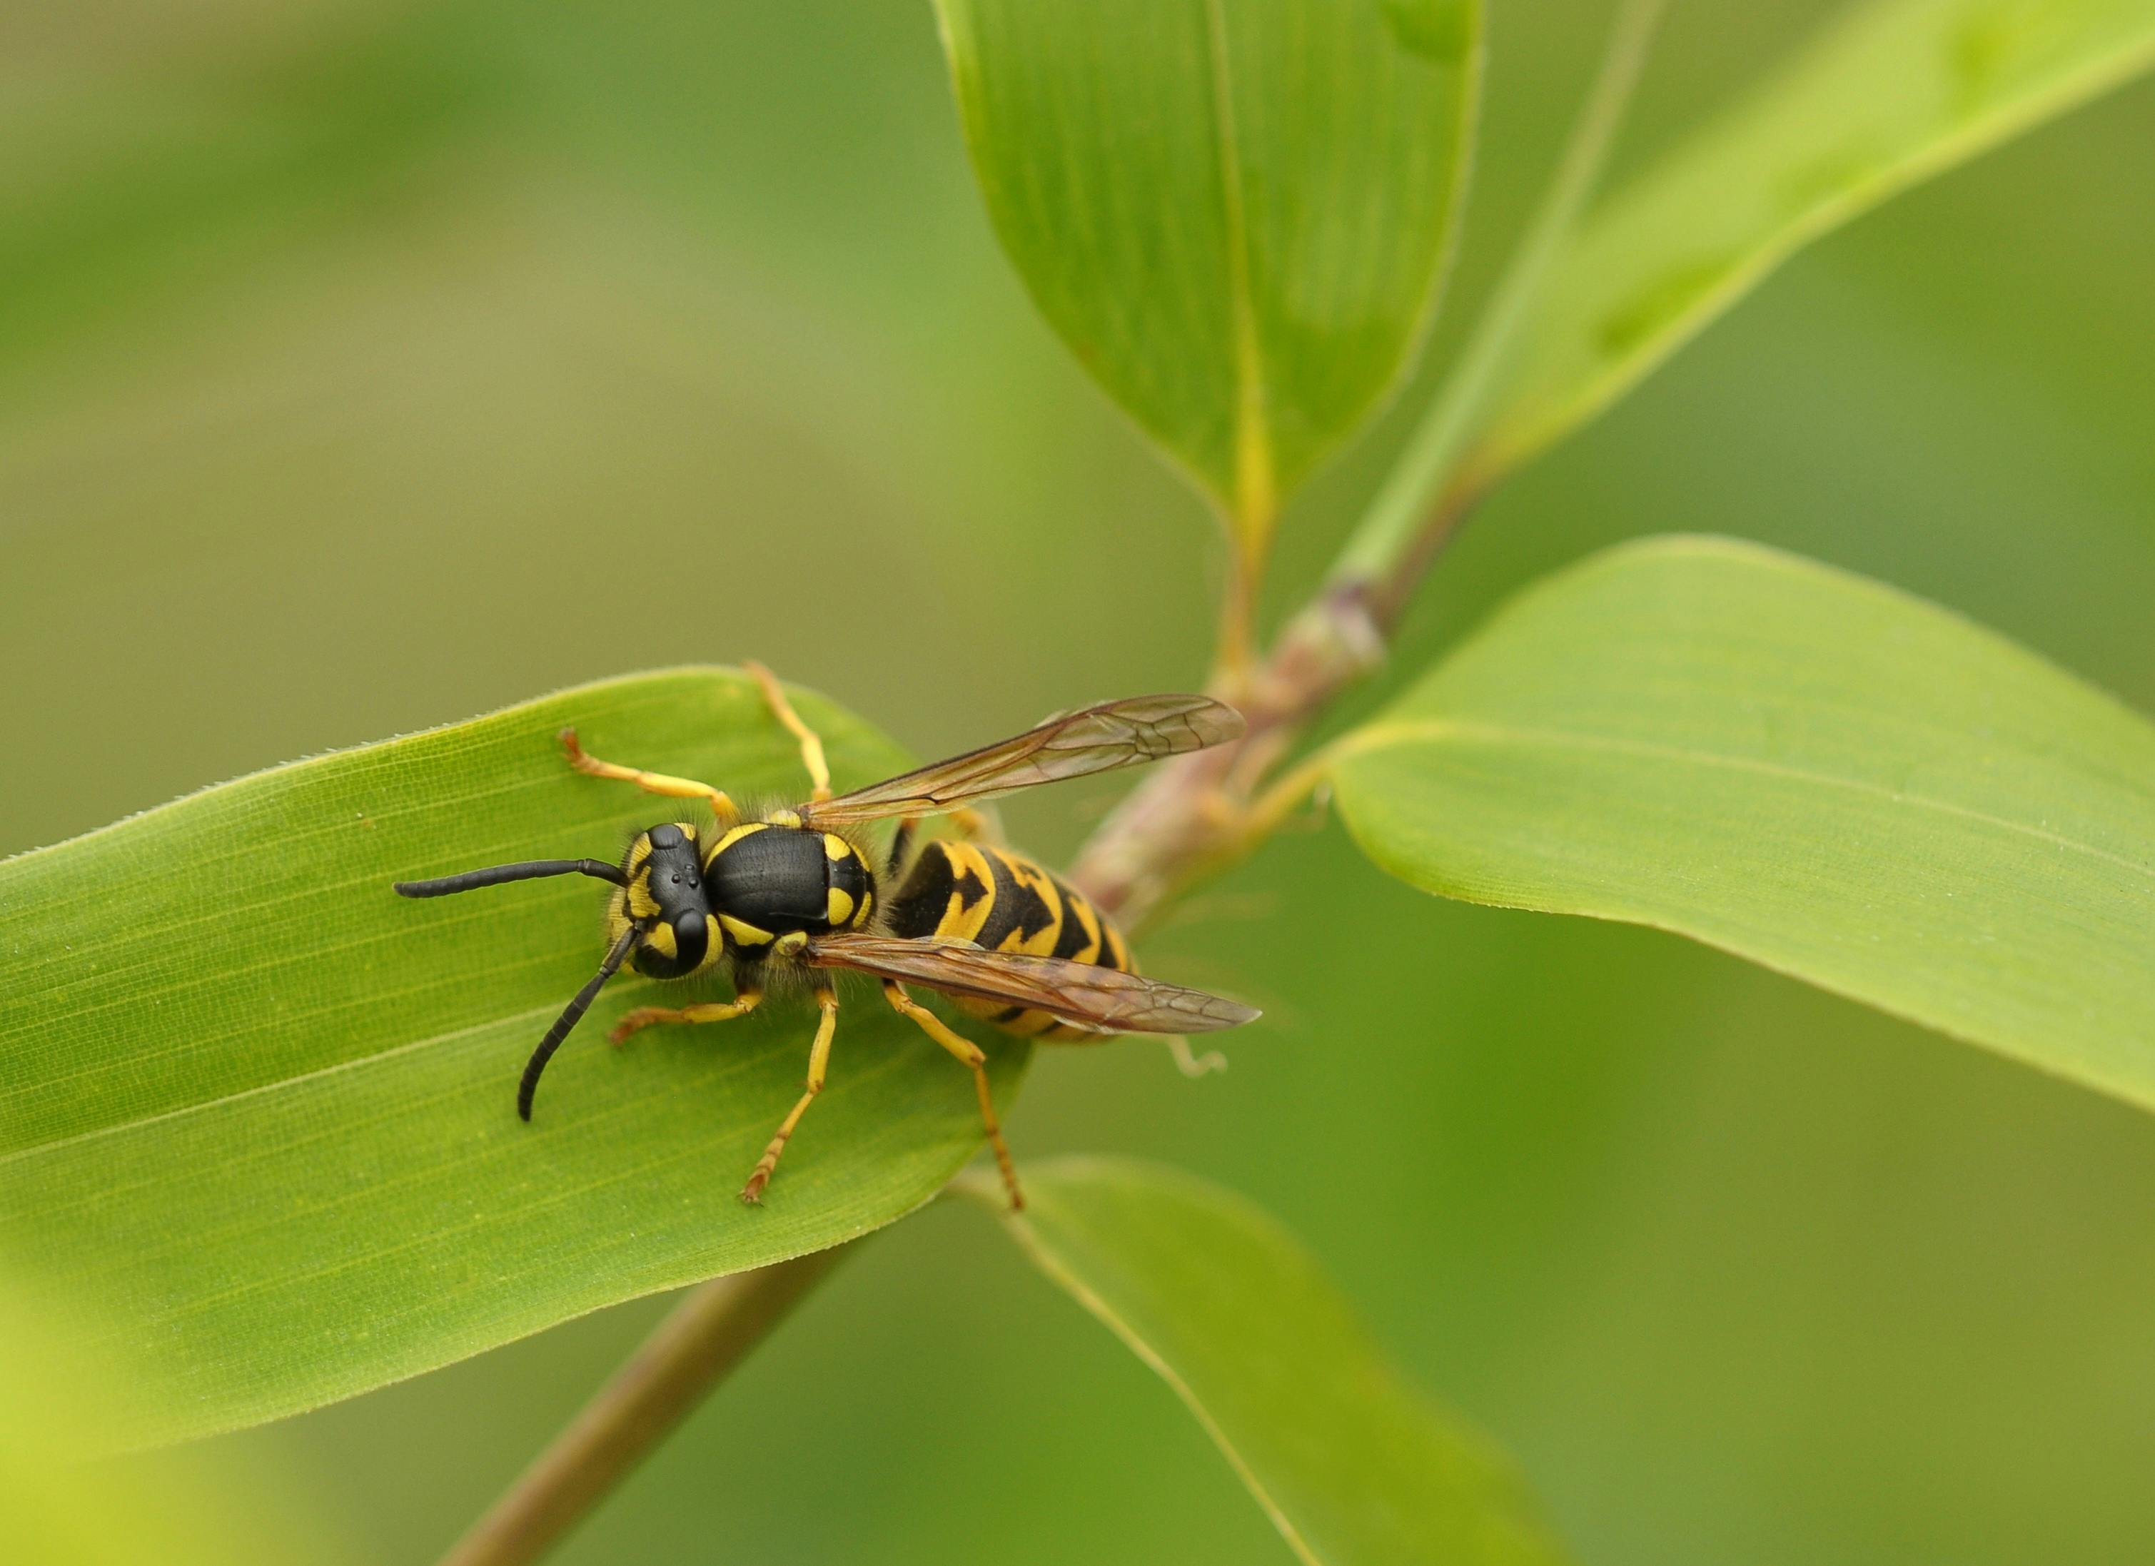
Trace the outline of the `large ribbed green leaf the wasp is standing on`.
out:
<instances>
[{"instance_id":1,"label":"large ribbed green leaf the wasp is standing on","mask_svg":"<svg viewBox=\"0 0 2155 1566\"><path fill-rule=\"evenodd\" d=\"M802 713L840 784L905 765L828 702ZM78 1316L86 1346L155 1372L142 1439L836 1245L978 1146L965 1073L847 991L830 1086L746 1208L812 1012L778 1002L614 1051L614 1015L696 993L634 974L517 1120L524 1058L603 954L606 887L409 903L390 881L614 857L636 827L698 819L571 773L565 724L599 756L743 799L806 791L748 679L670 670L278 767L0 864L0 1254L99 1301ZM989 1047L1009 1090L1024 1049Z\"/></svg>"}]
</instances>

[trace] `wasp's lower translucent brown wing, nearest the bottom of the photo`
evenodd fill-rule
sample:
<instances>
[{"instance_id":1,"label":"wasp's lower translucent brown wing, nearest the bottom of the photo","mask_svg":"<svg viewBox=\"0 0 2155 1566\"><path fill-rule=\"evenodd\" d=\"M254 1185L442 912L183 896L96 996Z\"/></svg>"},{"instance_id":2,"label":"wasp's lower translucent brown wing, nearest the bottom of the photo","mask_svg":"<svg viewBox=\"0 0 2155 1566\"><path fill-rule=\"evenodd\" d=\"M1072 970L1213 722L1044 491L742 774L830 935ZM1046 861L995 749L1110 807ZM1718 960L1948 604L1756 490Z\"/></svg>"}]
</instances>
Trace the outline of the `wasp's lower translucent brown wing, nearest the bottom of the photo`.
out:
<instances>
[{"instance_id":1,"label":"wasp's lower translucent brown wing, nearest the bottom of the photo","mask_svg":"<svg viewBox=\"0 0 2155 1566\"><path fill-rule=\"evenodd\" d=\"M810 941L808 961L912 980L946 995L1043 1010L1108 1034L1211 1034L1259 1017L1254 1006L1198 989L1093 963L1065 963L1060 956L989 952L972 941L840 933Z\"/></svg>"}]
</instances>

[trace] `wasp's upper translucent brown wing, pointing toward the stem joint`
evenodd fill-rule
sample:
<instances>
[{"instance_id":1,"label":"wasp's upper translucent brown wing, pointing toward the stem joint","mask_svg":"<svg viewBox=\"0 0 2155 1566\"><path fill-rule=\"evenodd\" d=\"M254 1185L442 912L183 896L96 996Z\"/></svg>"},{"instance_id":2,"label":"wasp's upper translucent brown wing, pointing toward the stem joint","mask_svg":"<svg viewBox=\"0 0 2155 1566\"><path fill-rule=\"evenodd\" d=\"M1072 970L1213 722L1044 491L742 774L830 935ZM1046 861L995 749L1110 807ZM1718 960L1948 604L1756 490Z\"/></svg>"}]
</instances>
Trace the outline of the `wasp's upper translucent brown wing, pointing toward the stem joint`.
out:
<instances>
[{"instance_id":1,"label":"wasp's upper translucent brown wing, pointing toward the stem joint","mask_svg":"<svg viewBox=\"0 0 2155 1566\"><path fill-rule=\"evenodd\" d=\"M924 816L976 799L1205 750L1241 735L1241 713L1209 696L1131 696L1049 717L1024 735L800 808L804 825Z\"/></svg>"}]
</instances>

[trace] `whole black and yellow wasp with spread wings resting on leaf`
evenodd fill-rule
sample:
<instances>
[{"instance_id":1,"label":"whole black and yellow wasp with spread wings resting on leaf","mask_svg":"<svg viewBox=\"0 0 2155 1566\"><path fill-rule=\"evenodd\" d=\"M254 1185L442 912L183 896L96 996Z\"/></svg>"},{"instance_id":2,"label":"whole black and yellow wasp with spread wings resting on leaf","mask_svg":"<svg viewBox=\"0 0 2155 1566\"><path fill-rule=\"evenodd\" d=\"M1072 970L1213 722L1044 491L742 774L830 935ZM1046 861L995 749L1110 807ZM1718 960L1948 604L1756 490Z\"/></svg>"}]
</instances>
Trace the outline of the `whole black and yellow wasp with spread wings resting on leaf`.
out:
<instances>
[{"instance_id":1,"label":"whole black and yellow wasp with spread wings resting on leaf","mask_svg":"<svg viewBox=\"0 0 2155 1566\"><path fill-rule=\"evenodd\" d=\"M879 978L892 1008L972 1068L981 1120L1011 1206L1024 1206L1011 1150L996 1124L987 1055L907 995L907 982L942 991L968 1015L1032 1038L1200 1034L1256 1017L1237 1002L1140 978L1129 943L1101 909L1032 859L978 842L983 823L968 808L1058 778L1218 745L1241 732L1241 715L1233 707L1205 696L1101 702L996 745L832 797L823 741L800 719L769 670L752 663L750 672L771 713L800 741L810 780L804 803L743 819L724 791L599 760L567 728L560 739L578 771L634 782L672 799L705 799L713 823L668 821L640 831L618 866L603 859L532 859L397 883L412 898L550 875L588 875L614 885L606 911L606 961L524 1066L517 1114L526 1120L539 1073L623 963L651 978L726 967L735 997L681 1008L642 1006L616 1023L614 1043L651 1023L741 1017L763 1002L765 991L806 976L823 1012L808 1051L808 1090L741 1189L743 1202L759 1202L787 1137L823 1090L838 1021L838 995L828 969L853 969ZM931 814L950 816L961 836L916 840L916 823ZM877 866L858 829L888 816L899 819L899 831Z\"/></svg>"}]
</instances>

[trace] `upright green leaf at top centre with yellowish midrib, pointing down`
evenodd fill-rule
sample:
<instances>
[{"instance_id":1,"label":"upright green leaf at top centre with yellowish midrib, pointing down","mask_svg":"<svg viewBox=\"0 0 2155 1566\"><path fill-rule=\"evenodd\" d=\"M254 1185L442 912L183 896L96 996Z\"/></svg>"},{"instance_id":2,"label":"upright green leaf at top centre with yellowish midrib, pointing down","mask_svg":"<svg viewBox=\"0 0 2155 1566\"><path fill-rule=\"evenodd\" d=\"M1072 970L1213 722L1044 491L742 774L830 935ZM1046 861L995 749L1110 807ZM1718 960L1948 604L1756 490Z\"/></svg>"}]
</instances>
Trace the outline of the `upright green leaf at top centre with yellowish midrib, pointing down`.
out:
<instances>
[{"instance_id":1,"label":"upright green leaf at top centre with yellowish midrib, pointing down","mask_svg":"<svg viewBox=\"0 0 2155 1566\"><path fill-rule=\"evenodd\" d=\"M1002 246L1261 547L1399 379L1448 252L1480 0L937 0Z\"/></svg>"}]
</instances>

